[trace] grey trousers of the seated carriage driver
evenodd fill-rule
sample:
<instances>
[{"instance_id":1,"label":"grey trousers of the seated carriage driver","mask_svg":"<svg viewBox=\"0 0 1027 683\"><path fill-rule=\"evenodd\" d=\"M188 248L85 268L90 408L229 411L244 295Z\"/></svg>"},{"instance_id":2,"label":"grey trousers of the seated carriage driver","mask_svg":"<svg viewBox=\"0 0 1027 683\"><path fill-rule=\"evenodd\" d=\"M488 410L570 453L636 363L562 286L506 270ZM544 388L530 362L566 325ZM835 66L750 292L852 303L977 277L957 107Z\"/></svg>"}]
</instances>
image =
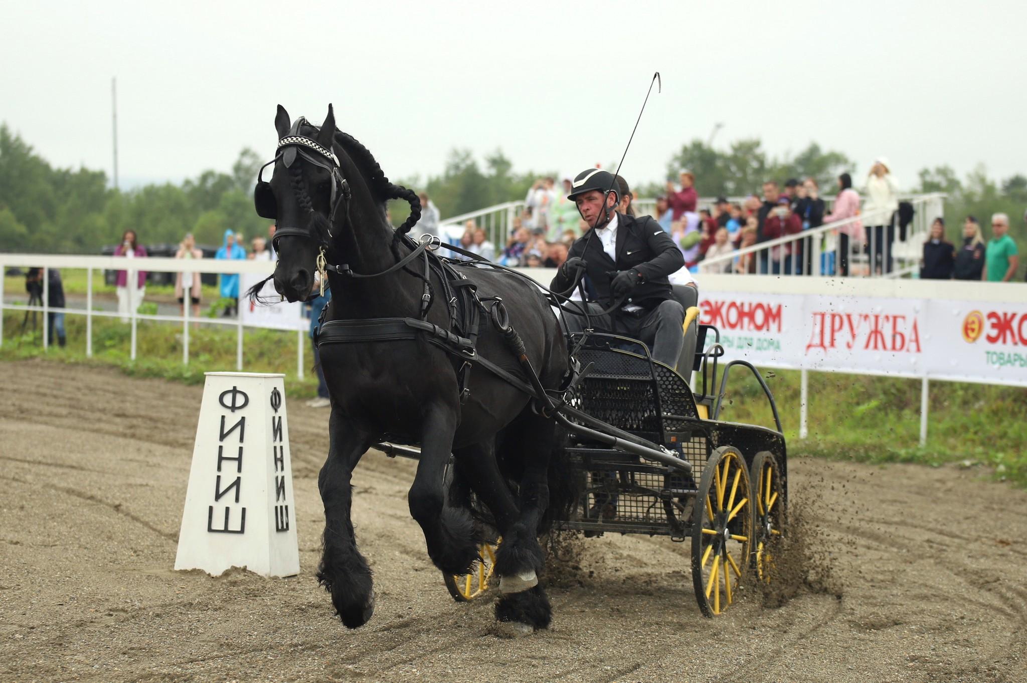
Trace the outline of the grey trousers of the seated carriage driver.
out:
<instances>
[{"instance_id":1,"label":"grey trousers of the seated carriage driver","mask_svg":"<svg viewBox=\"0 0 1027 683\"><path fill-rule=\"evenodd\" d=\"M580 306L580 303L575 304ZM638 339L649 347L649 353L654 360L677 367L681 348L685 344L685 333L682 329L685 323L685 309L681 304L668 299L651 311L636 313L614 311L605 316L595 315L602 310L603 307L599 304L588 305L593 329L597 332L620 334ZM570 332L579 333L584 330L584 316L564 312L564 320Z\"/></svg>"}]
</instances>

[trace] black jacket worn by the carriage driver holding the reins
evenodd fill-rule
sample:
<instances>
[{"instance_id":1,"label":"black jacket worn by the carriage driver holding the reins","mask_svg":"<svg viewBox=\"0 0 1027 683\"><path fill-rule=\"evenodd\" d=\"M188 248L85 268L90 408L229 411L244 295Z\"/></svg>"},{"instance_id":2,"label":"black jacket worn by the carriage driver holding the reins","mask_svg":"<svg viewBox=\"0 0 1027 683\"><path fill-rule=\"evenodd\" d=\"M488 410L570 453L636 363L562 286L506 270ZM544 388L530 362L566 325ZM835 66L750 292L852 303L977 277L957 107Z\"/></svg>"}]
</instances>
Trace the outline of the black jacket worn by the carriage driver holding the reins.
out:
<instances>
[{"instance_id":1,"label":"black jacket worn by the carriage driver holding the reins","mask_svg":"<svg viewBox=\"0 0 1027 683\"><path fill-rule=\"evenodd\" d=\"M633 268L637 270L642 275L642 282L632 290L625 304L652 308L659 302L674 298L671 282L667 278L685 265L681 250L658 223L647 215L635 217L623 213L617 214L616 263L603 250L603 242L599 239L599 235L588 240L587 232L571 246L568 258L573 256L584 258L587 266L585 276L592 294L589 298L595 297L604 307L613 303L610 294L611 278L607 273L629 271ZM570 281L558 271L549 288L554 291L565 291L570 284Z\"/></svg>"}]
</instances>

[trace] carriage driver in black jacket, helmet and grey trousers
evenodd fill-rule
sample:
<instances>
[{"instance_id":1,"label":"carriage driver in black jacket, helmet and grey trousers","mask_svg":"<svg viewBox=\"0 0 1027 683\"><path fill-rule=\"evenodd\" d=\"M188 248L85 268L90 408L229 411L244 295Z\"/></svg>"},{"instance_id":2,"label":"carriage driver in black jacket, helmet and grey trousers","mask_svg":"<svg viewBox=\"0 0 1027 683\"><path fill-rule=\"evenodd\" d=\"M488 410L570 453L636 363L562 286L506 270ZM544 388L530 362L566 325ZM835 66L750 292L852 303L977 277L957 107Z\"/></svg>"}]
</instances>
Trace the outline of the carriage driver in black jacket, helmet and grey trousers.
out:
<instances>
[{"instance_id":1,"label":"carriage driver in black jacket, helmet and grey trousers","mask_svg":"<svg viewBox=\"0 0 1027 683\"><path fill-rule=\"evenodd\" d=\"M668 276L685 259L651 217L616 212L618 195L609 171L589 168L574 177L567 198L577 204L589 228L595 226L596 234L585 232L574 242L549 288L566 292L583 270L596 331L638 339L649 347L654 360L675 367L684 344L685 311L675 300ZM598 315L613 306L608 314ZM584 316L564 316L569 331L583 331Z\"/></svg>"}]
</instances>

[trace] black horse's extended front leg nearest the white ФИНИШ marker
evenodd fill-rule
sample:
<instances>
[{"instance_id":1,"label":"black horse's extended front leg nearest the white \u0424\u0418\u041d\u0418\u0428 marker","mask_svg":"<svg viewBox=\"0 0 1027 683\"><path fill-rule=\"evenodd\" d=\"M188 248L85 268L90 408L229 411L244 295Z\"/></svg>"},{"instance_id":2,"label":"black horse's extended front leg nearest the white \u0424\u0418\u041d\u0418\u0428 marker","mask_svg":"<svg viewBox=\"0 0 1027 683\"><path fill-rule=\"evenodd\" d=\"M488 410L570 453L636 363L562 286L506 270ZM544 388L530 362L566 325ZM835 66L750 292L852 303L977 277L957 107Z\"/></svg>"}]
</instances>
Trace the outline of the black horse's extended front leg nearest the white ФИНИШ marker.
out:
<instances>
[{"instance_id":1,"label":"black horse's extended front leg nearest the white \u0424\u0418\u041d\u0418\u0428 marker","mask_svg":"<svg viewBox=\"0 0 1027 683\"><path fill-rule=\"evenodd\" d=\"M367 624L375 611L371 568L356 549L350 519L353 468L371 445L342 413L332 408L328 459L317 477L325 505L325 538L317 580L332 594L339 618L349 629Z\"/></svg>"}]
</instances>

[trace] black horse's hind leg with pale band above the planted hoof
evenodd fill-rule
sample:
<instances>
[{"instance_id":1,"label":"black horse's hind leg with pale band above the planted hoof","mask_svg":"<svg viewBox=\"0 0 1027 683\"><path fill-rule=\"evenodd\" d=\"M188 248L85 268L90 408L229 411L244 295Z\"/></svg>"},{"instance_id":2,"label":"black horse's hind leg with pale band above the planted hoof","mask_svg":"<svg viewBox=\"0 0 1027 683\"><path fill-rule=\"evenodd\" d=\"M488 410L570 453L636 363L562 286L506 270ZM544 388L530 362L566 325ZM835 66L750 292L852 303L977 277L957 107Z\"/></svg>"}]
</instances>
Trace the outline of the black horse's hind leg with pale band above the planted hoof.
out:
<instances>
[{"instance_id":1,"label":"black horse's hind leg with pale band above the planted hoof","mask_svg":"<svg viewBox=\"0 0 1027 683\"><path fill-rule=\"evenodd\" d=\"M538 525L548 505L547 470L556 439L551 419L528 413L514 428L516 437L503 445L505 457L521 458L520 517L503 532L496 552L496 573L502 597L496 603L500 621L545 629L553 618L549 599L538 578L544 564Z\"/></svg>"}]
</instances>

